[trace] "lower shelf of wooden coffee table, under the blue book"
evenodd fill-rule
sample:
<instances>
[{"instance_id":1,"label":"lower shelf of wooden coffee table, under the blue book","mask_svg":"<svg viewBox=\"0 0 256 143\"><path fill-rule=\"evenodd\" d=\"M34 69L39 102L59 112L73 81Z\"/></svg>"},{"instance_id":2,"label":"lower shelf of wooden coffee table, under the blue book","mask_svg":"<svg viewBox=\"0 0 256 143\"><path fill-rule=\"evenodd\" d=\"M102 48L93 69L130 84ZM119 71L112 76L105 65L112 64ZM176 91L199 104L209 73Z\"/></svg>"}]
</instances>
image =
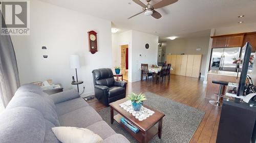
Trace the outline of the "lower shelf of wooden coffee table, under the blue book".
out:
<instances>
[{"instance_id":1,"label":"lower shelf of wooden coffee table, under the blue book","mask_svg":"<svg viewBox=\"0 0 256 143\"><path fill-rule=\"evenodd\" d=\"M131 131L129 128L127 128L125 125L121 123L120 121L121 118L122 116L120 114L117 114L116 116L114 116L114 120L120 126L122 126L122 128L124 128L127 132L129 132L136 140L138 140L139 142L143 142L143 131L140 130L138 133L134 133L133 131ZM158 134L158 129L155 126L151 127L146 131L146 141L144 142L150 141L156 134Z\"/></svg>"}]
</instances>

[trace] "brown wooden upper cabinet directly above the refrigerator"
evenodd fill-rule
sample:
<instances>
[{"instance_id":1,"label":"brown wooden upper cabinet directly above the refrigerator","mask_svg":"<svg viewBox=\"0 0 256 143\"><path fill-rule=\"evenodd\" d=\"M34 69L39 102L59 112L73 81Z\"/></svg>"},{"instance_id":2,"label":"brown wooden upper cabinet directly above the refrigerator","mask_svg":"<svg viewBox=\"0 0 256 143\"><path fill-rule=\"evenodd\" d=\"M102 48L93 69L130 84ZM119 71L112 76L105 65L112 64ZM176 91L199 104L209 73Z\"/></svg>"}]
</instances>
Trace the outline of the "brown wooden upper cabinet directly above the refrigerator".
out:
<instances>
[{"instance_id":1,"label":"brown wooden upper cabinet directly above the refrigerator","mask_svg":"<svg viewBox=\"0 0 256 143\"><path fill-rule=\"evenodd\" d=\"M213 36L212 48L241 47L244 34Z\"/></svg>"}]
</instances>

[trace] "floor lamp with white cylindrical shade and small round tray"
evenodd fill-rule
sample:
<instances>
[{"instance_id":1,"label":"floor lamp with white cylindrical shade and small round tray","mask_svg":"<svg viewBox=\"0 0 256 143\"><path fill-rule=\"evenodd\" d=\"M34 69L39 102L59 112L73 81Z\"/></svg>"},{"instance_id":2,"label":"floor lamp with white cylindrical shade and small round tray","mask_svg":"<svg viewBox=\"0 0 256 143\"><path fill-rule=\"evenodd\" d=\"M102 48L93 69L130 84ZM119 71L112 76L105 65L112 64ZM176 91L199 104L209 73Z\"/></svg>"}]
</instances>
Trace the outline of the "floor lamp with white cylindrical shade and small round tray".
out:
<instances>
[{"instance_id":1,"label":"floor lamp with white cylindrical shade and small round tray","mask_svg":"<svg viewBox=\"0 0 256 143\"><path fill-rule=\"evenodd\" d=\"M70 55L70 68L76 69L76 82L72 82L72 84L77 85L77 91L79 93L78 84L81 84L80 82L82 82L82 81L78 81L78 78L77 78L77 69L80 68L80 62L79 62L78 55L76 55L76 54Z\"/></svg>"}]
</instances>

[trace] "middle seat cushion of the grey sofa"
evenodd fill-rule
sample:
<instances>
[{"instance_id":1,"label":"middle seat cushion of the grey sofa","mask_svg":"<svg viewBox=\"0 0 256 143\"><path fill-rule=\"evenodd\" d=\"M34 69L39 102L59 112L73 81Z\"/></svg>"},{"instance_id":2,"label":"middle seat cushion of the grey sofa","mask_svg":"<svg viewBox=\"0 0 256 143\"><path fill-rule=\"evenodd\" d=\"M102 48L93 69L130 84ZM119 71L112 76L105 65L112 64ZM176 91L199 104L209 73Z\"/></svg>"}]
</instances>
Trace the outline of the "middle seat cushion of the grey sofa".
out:
<instances>
[{"instance_id":1,"label":"middle seat cushion of the grey sofa","mask_svg":"<svg viewBox=\"0 0 256 143\"><path fill-rule=\"evenodd\" d=\"M102 121L99 114L91 107L86 106L58 116L60 126L86 128Z\"/></svg>"}]
</instances>

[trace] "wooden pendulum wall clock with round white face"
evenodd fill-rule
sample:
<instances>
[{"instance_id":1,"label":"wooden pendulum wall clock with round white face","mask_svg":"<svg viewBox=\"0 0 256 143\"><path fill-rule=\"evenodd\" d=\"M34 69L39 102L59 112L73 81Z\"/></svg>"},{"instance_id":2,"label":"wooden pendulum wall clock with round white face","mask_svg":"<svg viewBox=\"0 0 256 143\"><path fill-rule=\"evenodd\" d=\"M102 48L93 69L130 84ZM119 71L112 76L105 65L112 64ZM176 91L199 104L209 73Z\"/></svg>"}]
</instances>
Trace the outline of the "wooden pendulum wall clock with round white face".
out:
<instances>
[{"instance_id":1,"label":"wooden pendulum wall clock with round white face","mask_svg":"<svg viewBox=\"0 0 256 143\"><path fill-rule=\"evenodd\" d=\"M97 47L97 33L95 31L88 32L88 43L89 43L89 51L94 54L98 51Z\"/></svg>"}]
</instances>

